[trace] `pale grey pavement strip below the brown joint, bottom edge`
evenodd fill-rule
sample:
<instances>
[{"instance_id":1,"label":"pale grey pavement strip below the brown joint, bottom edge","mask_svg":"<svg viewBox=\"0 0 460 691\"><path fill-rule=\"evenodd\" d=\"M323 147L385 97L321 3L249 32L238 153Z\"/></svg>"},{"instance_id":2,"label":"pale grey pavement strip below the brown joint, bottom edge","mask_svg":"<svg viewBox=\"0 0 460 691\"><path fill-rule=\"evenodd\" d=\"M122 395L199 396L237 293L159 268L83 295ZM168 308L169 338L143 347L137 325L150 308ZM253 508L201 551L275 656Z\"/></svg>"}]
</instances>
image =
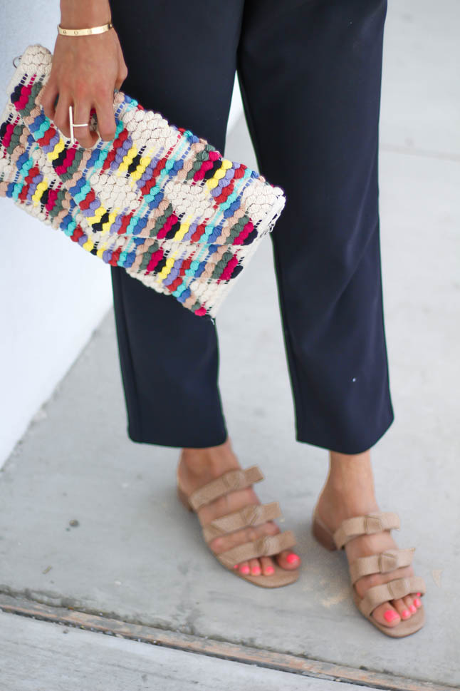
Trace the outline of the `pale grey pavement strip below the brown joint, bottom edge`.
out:
<instances>
[{"instance_id":1,"label":"pale grey pavement strip below the brown joint, bottom edge","mask_svg":"<svg viewBox=\"0 0 460 691\"><path fill-rule=\"evenodd\" d=\"M2 691L328 691L330 680L0 613ZM67 634L67 635L63 635ZM20 665L21 675L18 675ZM334 683L334 691L362 686Z\"/></svg>"}]
</instances>

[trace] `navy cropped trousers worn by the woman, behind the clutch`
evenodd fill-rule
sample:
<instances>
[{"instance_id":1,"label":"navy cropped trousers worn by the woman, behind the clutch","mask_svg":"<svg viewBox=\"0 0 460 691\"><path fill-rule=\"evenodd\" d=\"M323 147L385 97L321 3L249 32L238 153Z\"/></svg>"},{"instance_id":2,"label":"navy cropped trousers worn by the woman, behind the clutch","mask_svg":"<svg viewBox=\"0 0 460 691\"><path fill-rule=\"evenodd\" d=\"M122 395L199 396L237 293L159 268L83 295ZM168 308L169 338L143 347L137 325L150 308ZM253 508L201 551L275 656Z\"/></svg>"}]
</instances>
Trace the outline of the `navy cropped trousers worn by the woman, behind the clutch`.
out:
<instances>
[{"instance_id":1,"label":"navy cropped trousers worn by the woman, behind the clutch","mask_svg":"<svg viewBox=\"0 0 460 691\"><path fill-rule=\"evenodd\" d=\"M394 419L377 176L386 0L111 6L128 68L122 91L221 153L238 71L258 170L286 192L269 237L296 439L369 449ZM222 444L219 317L111 272L128 436Z\"/></svg>"}]
</instances>

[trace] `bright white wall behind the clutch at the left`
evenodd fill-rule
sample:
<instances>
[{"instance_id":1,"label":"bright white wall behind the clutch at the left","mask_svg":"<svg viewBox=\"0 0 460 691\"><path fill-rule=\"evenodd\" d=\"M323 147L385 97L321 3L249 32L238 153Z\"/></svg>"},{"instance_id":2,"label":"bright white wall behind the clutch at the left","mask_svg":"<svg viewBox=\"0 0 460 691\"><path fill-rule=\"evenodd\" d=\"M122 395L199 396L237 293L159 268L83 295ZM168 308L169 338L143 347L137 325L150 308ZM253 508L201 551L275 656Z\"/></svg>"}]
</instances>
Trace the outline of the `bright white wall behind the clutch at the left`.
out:
<instances>
[{"instance_id":1,"label":"bright white wall behind the clutch at the left","mask_svg":"<svg viewBox=\"0 0 460 691\"><path fill-rule=\"evenodd\" d=\"M2 6L0 112L14 56L31 43L53 51L58 7L58 0ZM229 127L242 111L235 91ZM1 467L110 308L112 289L108 265L11 199L0 198L0 239Z\"/></svg>"}]
</instances>

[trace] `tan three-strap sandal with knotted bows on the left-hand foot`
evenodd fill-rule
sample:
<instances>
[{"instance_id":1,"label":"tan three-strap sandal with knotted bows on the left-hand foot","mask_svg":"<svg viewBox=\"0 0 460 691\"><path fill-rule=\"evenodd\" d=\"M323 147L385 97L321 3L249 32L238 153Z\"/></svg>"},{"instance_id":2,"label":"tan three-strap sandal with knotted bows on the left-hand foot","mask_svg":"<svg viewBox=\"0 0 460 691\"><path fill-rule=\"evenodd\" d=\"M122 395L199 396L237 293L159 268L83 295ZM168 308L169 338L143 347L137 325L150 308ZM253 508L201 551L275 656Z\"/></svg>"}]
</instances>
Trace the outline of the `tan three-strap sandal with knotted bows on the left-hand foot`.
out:
<instances>
[{"instance_id":1,"label":"tan three-strap sandal with knotted bows on the left-hand foot","mask_svg":"<svg viewBox=\"0 0 460 691\"><path fill-rule=\"evenodd\" d=\"M189 511L195 512L219 496L223 496L236 489L244 489L251 486L254 482L263 480L263 474L258 469L258 466L251 466L247 469L235 469L227 471L219 478L212 480L194 491L190 496L187 496L179 485L178 475L177 470L177 496ZM207 523L206 526L202 526L203 538L209 546L209 542L218 536L241 530L241 528L246 528L247 526L258 526L266 521L273 521L273 519L281 515L277 501L268 504L249 504L239 511L214 518L214 521ZM252 575L251 573L241 573L239 569L234 568L234 565L257 557L273 556L293 547L295 544L296 538L294 533L292 531L283 531L278 533L278 535L263 536L255 541L244 543L220 554L214 553L211 548L209 548L209 551L223 566L240 578L249 580L254 585L261 585L263 588L279 588L281 585L294 583L298 579L299 570L287 570L273 562L274 573L270 575Z\"/></svg>"}]
</instances>

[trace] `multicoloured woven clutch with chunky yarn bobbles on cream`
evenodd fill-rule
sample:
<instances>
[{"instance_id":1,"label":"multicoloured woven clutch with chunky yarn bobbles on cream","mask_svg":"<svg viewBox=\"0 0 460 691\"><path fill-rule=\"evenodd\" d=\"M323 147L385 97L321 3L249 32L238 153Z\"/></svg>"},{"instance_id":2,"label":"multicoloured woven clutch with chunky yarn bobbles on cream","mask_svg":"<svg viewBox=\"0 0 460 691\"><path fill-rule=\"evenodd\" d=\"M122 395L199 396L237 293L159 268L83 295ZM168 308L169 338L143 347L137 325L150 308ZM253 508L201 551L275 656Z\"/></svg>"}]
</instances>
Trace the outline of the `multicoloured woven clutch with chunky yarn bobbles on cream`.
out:
<instances>
[{"instance_id":1,"label":"multicoloured woven clutch with chunky yarn bobbles on cream","mask_svg":"<svg viewBox=\"0 0 460 691\"><path fill-rule=\"evenodd\" d=\"M214 317L273 229L283 190L122 91L114 95L115 138L72 145L40 105L52 58L28 46L7 87L0 195L194 314Z\"/></svg>"}]
</instances>

